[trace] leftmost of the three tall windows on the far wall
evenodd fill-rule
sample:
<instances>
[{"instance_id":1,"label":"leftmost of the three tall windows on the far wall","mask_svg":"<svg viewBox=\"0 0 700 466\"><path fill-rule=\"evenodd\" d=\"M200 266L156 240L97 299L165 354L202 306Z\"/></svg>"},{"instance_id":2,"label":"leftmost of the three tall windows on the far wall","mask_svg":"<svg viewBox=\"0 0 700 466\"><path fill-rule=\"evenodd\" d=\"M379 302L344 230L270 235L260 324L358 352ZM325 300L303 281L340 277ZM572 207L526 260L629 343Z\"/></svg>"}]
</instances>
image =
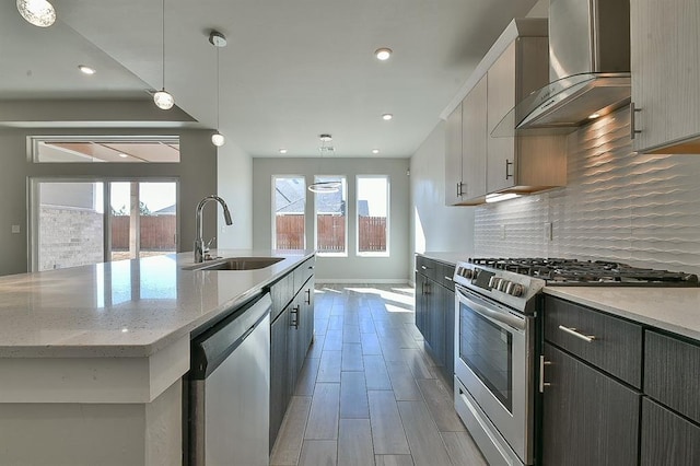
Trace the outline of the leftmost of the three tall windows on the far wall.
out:
<instances>
[{"instance_id":1,"label":"leftmost of the three tall windows on the far wall","mask_svg":"<svg viewBox=\"0 0 700 466\"><path fill-rule=\"evenodd\" d=\"M306 235L306 179L303 176L272 177L272 248L304 249Z\"/></svg>"}]
</instances>

